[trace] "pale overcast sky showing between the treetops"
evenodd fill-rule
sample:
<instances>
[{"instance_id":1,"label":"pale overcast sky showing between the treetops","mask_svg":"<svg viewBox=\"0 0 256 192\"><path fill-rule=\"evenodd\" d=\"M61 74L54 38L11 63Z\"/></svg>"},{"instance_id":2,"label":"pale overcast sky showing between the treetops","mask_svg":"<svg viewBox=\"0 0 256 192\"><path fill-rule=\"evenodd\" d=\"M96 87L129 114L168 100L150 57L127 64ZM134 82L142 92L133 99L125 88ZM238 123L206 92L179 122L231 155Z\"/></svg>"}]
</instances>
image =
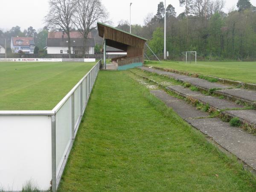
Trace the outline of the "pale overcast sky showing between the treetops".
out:
<instances>
[{"instance_id":1,"label":"pale overcast sky showing between the treetops","mask_svg":"<svg viewBox=\"0 0 256 192\"><path fill-rule=\"evenodd\" d=\"M116 26L119 20L130 20L130 2L133 3L131 23L143 24L148 13L156 14L160 0L102 0L113 26ZM250 2L256 6L256 0ZM237 0L226 0L225 12L232 7L236 8L236 3ZM166 0L166 4L172 4L177 15L184 10L179 6L179 0ZM0 0L0 7L0 29L4 31L16 25L20 26L22 31L29 26L35 29L43 28L44 16L49 9L48 0Z\"/></svg>"}]
</instances>

